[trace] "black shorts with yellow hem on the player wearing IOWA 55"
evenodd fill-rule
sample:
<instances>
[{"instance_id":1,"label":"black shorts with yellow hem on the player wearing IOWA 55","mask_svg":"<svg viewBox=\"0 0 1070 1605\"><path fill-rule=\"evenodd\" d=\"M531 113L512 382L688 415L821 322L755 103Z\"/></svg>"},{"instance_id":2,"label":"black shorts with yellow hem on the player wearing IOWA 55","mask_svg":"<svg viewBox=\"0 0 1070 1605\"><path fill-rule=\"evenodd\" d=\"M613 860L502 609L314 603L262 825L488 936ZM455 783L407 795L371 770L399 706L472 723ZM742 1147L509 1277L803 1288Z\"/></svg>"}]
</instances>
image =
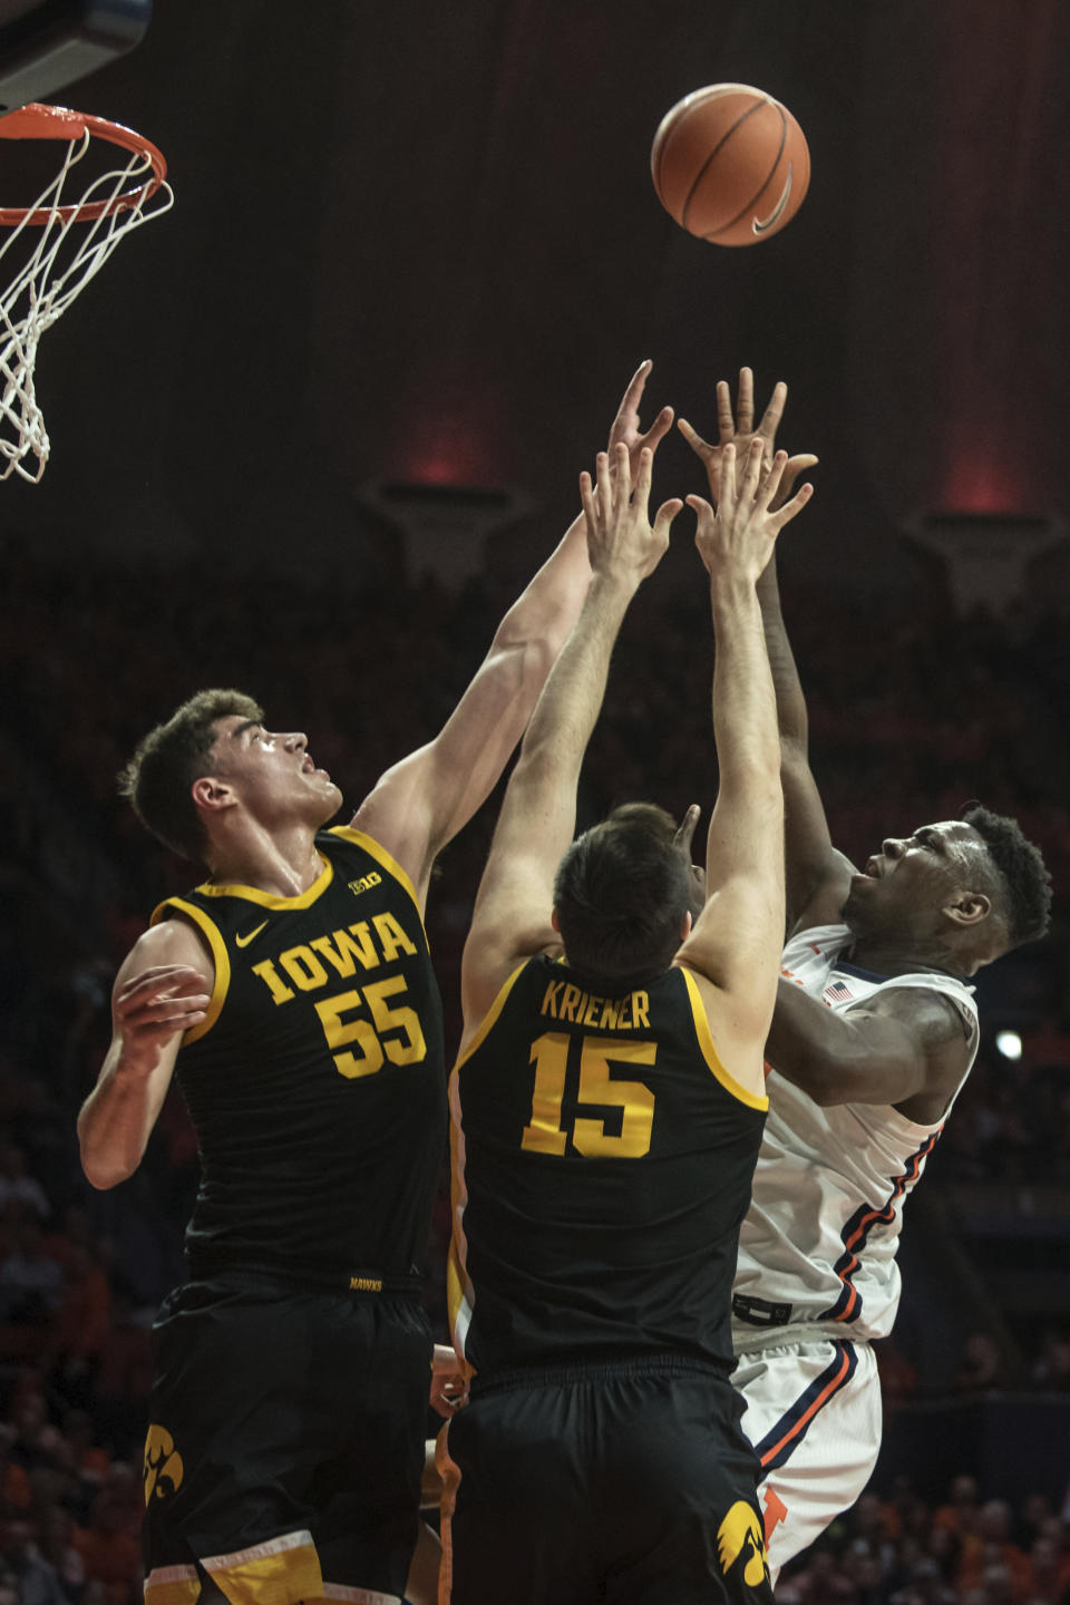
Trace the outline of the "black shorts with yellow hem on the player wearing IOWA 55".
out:
<instances>
[{"instance_id":1,"label":"black shorts with yellow hem on the player wearing IOWA 55","mask_svg":"<svg viewBox=\"0 0 1070 1605\"><path fill-rule=\"evenodd\" d=\"M419 1298L226 1273L154 1326L148 1605L399 1599L415 1544L432 1337ZM347 1592L348 1591L348 1592Z\"/></svg>"}]
</instances>

